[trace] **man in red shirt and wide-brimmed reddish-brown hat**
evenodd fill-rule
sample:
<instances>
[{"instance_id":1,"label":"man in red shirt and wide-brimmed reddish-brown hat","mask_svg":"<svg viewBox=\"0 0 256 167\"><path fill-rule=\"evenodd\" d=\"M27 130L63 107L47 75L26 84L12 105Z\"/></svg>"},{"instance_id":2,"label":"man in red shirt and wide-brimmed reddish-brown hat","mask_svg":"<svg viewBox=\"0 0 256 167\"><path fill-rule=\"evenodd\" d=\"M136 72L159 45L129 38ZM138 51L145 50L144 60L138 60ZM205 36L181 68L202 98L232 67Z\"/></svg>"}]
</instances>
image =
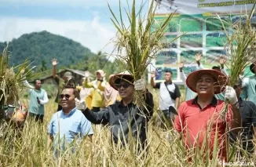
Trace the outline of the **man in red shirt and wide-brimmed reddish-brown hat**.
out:
<instances>
[{"instance_id":1,"label":"man in red shirt and wide-brimmed reddish-brown hat","mask_svg":"<svg viewBox=\"0 0 256 167\"><path fill-rule=\"evenodd\" d=\"M218 133L219 158L226 160L225 133L228 126L232 132L238 132L241 116L236 91L225 86L226 75L215 70L199 70L188 75L186 83L189 89L198 94L195 99L181 103L178 116L174 121L177 132L182 133L188 149L197 146L203 150L210 149L210 157L214 149L215 133ZM214 94L221 93L225 86L225 99L229 100L228 113L221 111L225 102L217 100ZM203 140L207 139L207 144Z\"/></svg>"}]
</instances>

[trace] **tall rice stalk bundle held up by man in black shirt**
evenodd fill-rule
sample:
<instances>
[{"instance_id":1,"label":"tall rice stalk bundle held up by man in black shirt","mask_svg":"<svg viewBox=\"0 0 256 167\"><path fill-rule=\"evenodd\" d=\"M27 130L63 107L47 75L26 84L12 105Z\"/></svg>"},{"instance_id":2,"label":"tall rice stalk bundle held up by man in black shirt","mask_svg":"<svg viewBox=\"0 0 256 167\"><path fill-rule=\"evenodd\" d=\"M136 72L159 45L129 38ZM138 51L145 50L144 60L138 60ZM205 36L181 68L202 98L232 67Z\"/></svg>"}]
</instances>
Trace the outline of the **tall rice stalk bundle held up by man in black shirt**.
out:
<instances>
[{"instance_id":1,"label":"tall rice stalk bundle held up by man in black shirt","mask_svg":"<svg viewBox=\"0 0 256 167\"><path fill-rule=\"evenodd\" d=\"M128 2L127 2L128 4ZM150 4L148 9L148 15L142 18L142 9L144 7L143 2L141 7L136 13L135 11L135 0L133 0L133 6L130 13L130 8L128 4L128 13L125 9L126 16L128 17L130 26L126 27L123 22L121 2L119 1L119 18L113 13L111 7L108 5L110 12L112 13L112 24L114 24L117 29L117 34L115 37L115 46L117 54L115 58L121 63L125 64L127 71L133 75L134 80L137 81L143 78L144 71L147 69L148 64L151 64L151 60L155 58L155 54L163 49L163 37L166 32L166 28L174 13L166 16L166 18L161 22L161 24L156 25L155 31L151 31L155 23L154 15L156 6L154 6L154 1ZM174 40L176 40L175 38ZM141 100L143 100L143 95L140 91L135 93L135 103L139 106L143 105Z\"/></svg>"}]
</instances>

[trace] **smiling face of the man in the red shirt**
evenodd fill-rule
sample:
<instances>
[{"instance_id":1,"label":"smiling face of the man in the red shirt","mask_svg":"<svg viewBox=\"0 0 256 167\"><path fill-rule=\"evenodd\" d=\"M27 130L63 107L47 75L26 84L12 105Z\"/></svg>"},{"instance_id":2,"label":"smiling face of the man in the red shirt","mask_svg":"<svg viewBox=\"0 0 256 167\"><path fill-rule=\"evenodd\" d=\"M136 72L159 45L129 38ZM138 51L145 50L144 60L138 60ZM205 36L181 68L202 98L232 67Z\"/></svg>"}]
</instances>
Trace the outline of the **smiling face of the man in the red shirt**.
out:
<instances>
[{"instance_id":1,"label":"smiling face of the man in the red shirt","mask_svg":"<svg viewBox=\"0 0 256 167\"><path fill-rule=\"evenodd\" d=\"M217 81L211 74L200 74L196 81L196 93L214 95L214 82Z\"/></svg>"}]
</instances>

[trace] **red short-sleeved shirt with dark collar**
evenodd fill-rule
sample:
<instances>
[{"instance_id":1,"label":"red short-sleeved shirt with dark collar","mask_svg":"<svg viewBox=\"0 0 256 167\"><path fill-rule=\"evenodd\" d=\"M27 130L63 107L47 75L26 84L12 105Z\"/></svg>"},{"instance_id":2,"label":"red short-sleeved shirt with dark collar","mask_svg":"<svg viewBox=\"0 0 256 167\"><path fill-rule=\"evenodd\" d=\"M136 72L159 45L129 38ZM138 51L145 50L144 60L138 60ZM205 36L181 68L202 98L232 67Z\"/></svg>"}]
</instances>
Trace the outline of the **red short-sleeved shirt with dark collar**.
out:
<instances>
[{"instance_id":1,"label":"red short-sleeved shirt with dark collar","mask_svg":"<svg viewBox=\"0 0 256 167\"><path fill-rule=\"evenodd\" d=\"M197 103L197 96L193 100L181 103L174 126L178 132L183 134L188 148L196 147L197 144L202 146L203 140L209 136L207 143L213 151L215 132L218 132L218 147L221 157L225 157L225 128L232 120L232 106L229 105L226 118L222 118L221 111L224 106L225 102L215 97L203 109Z\"/></svg>"}]
</instances>

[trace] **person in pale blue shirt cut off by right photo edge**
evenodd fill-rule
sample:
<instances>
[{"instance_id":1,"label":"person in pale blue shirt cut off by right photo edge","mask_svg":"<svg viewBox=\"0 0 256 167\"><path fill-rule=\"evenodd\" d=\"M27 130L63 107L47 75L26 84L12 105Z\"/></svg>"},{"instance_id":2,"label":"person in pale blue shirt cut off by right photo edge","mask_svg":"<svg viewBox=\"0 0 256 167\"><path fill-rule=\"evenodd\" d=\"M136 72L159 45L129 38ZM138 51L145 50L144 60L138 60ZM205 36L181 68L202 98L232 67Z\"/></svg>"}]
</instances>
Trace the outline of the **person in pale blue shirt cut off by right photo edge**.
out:
<instances>
[{"instance_id":1,"label":"person in pale blue shirt cut off by right photo edge","mask_svg":"<svg viewBox=\"0 0 256 167\"><path fill-rule=\"evenodd\" d=\"M250 66L250 70L254 73L253 76L248 78L243 78L243 88L246 88L247 100L256 104L256 61Z\"/></svg>"}]
</instances>

